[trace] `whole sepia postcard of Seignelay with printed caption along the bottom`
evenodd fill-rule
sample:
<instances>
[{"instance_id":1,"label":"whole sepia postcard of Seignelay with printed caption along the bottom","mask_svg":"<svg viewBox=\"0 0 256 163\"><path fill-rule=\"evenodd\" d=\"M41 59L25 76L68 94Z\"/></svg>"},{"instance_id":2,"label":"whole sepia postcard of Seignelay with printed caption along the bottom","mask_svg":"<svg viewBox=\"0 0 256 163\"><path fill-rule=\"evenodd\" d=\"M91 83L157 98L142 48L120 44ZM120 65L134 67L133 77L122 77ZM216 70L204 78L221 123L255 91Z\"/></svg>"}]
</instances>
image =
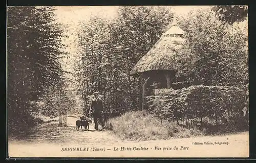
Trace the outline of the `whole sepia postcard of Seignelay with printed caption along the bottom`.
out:
<instances>
[{"instance_id":1,"label":"whole sepia postcard of Seignelay with printed caption along the bottom","mask_svg":"<svg viewBox=\"0 0 256 163\"><path fill-rule=\"evenodd\" d=\"M249 157L248 6L7 7L8 157Z\"/></svg>"}]
</instances>

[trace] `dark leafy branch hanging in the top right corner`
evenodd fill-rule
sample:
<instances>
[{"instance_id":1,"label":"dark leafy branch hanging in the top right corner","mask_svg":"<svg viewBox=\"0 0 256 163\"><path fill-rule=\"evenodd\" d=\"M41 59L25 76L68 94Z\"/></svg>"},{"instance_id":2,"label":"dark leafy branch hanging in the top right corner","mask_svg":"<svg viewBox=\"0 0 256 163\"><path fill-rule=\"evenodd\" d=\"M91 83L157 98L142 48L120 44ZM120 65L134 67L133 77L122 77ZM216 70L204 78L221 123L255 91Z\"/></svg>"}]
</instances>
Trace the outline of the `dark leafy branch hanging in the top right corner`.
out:
<instances>
[{"instance_id":1,"label":"dark leafy branch hanging in the top right corner","mask_svg":"<svg viewBox=\"0 0 256 163\"><path fill-rule=\"evenodd\" d=\"M216 16L223 24L229 25L237 21L244 21L248 16L248 6L242 5L215 6L211 10L216 12Z\"/></svg>"}]
</instances>

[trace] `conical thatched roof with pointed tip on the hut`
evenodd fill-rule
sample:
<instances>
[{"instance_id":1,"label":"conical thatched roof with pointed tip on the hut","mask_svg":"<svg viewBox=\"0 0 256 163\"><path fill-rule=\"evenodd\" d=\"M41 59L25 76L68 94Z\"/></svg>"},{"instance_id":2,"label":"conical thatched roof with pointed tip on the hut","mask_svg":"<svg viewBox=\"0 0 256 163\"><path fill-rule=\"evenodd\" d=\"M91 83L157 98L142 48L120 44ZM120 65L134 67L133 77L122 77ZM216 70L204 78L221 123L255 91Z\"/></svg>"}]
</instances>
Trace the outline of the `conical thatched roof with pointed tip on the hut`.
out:
<instances>
[{"instance_id":1,"label":"conical thatched roof with pointed tip on the hut","mask_svg":"<svg viewBox=\"0 0 256 163\"><path fill-rule=\"evenodd\" d=\"M152 70L172 70L175 54L182 48L184 31L177 26L174 18L172 27L155 43L153 48L134 66L131 74Z\"/></svg>"}]
</instances>

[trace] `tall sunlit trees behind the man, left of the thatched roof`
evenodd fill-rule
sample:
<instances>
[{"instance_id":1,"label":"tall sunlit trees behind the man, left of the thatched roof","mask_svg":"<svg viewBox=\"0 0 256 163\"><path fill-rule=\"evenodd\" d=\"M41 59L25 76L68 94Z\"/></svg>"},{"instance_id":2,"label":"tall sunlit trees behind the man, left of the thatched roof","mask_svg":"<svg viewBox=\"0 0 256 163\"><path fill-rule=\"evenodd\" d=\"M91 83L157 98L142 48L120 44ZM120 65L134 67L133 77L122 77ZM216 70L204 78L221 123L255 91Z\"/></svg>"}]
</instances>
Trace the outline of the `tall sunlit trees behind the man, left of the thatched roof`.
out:
<instances>
[{"instance_id":1,"label":"tall sunlit trees behind the man, left of the thatched roof","mask_svg":"<svg viewBox=\"0 0 256 163\"><path fill-rule=\"evenodd\" d=\"M84 111L88 111L88 96L94 91L103 95L109 112L140 108L142 79L132 77L130 71L158 40L170 18L172 13L162 7L120 7L111 21L92 17L81 22L76 77Z\"/></svg>"}]
</instances>

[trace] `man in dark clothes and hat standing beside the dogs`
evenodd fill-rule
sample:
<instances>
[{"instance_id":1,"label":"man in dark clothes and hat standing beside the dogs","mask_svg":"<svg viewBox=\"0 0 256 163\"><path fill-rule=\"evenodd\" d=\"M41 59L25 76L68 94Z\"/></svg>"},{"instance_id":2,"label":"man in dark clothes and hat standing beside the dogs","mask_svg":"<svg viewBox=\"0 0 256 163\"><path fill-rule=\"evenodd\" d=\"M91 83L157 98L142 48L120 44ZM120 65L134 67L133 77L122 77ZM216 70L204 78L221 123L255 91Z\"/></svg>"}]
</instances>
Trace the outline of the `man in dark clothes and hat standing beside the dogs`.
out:
<instances>
[{"instance_id":1,"label":"man in dark clothes and hat standing beside the dogs","mask_svg":"<svg viewBox=\"0 0 256 163\"><path fill-rule=\"evenodd\" d=\"M100 123L102 126L102 129L104 128L104 122L103 122L103 102L99 98L99 92L94 93L94 99L92 100L91 107L90 107L90 112L93 112L93 121L94 121L94 128L98 130L98 119L100 119Z\"/></svg>"}]
</instances>

